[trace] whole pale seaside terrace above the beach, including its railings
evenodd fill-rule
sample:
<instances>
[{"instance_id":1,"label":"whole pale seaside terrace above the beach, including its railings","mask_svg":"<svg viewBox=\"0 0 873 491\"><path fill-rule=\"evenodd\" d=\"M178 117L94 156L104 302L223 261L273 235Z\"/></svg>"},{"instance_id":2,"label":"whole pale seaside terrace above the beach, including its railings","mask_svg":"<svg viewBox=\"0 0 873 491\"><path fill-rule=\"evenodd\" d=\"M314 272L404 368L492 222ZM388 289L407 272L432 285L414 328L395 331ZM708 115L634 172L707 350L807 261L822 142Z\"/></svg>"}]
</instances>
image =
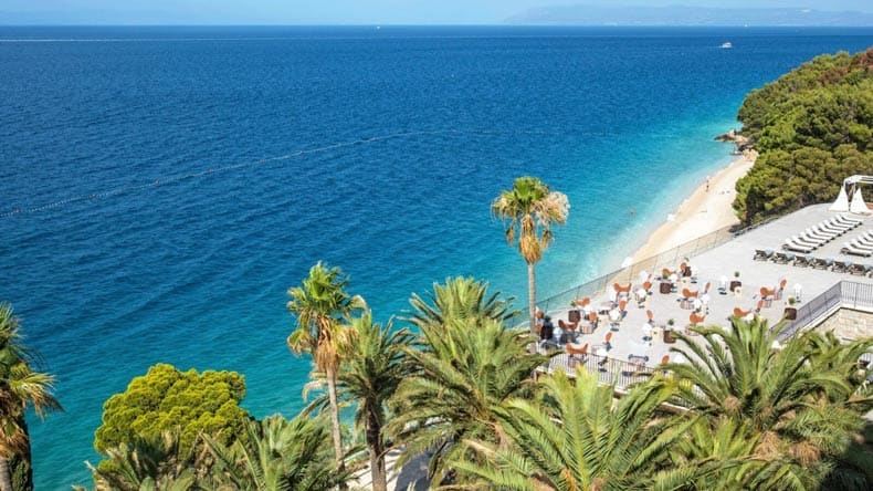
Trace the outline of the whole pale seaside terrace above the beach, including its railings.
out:
<instances>
[{"instance_id":1,"label":"whole pale seaside terrace above the beach, including its railings","mask_svg":"<svg viewBox=\"0 0 873 491\"><path fill-rule=\"evenodd\" d=\"M735 310L753 316L760 307L757 315L769 325L775 325L783 320L785 309L789 306L788 299L796 296L799 300L793 305L797 318L786 321L791 323L783 334L788 336L799 330L820 325L841 307L873 313L873 278L869 275L873 269L851 268L851 264L873 265L873 259L840 252L843 242L873 228L873 218L850 215L862 223L809 252L808 257L795 253L787 262L775 262L772 258L776 254L764 260L758 254L756 259L756 250L787 252L781 248L787 238L838 215L829 211L828 207L810 206L737 234L722 230L540 302L539 307L550 315L556 327L559 321L571 324L576 315L586 315L576 306L570 306L578 299L589 297L590 309L599 312L599 315L596 314L599 318L597 327L589 334L576 334L576 342L571 345L576 348L588 345L587 354L571 357L566 353L566 346L559 344L557 349L565 353L553 358L543 370L561 367L572 374L578 366L585 366L598 374L601 382L616 383L618 388L622 388L637 382L639 374L674 356L670 353L674 344L664 335L664 331L670 328L670 320L675 322L673 328L683 332L691 320L701 325L729 326ZM820 265L816 268L795 265L795 260L810 263L816 262L812 261L814 259L823 261L819 261ZM693 275L676 278L672 291L661 293L662 270L677 270L682 262L691 267ZM740 273L739 278L734 278L735 271ZM643 301L638 301L635 293L650 274L650 294ZM741 281L738 291L729 290L729 282L734 280ZM610 322L608 311L616 299L612 286L616 283L624 288L631 283L631 288L625 314L619 322ZM707 283L708 297L703 297ZM781 291L780 284L785 286ZM725 289L719 289L721 285ZM765 297L762 288L775 291ZM693 300L683 301L684 290L697 292L701 302L695 305ZM701 303L705 305L701 306ZM695 306L701 309L695 311ZM652 313L651 323L646 312ZM579 331L577 328L576 333ZM557 328L556 333L559 333ZM873 335L873 323L866 335ZM610 337L609 343L607 336ZM541 346L540 349L547 347Z\"/></svg>"}]
</instances>

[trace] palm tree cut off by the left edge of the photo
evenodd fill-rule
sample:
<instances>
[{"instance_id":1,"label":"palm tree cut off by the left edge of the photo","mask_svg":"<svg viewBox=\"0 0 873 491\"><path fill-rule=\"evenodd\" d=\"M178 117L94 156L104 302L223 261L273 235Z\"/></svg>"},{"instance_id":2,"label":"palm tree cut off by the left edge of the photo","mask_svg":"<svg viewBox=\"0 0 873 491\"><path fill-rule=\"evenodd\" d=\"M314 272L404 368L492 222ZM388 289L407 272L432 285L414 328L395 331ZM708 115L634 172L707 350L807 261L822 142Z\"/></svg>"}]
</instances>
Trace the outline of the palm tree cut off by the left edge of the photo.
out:
<instances>
[{"instance_id":1,"label":"palm tree cut off by the left edge of the photo","mask_svg":"<svg viewBox=\"0 0 873 491\"><path fill-rule=\"evenodd\" d=\"M27 488L32 488L25 409L33 408L40 418L61 409L52 394L54 376L33 370L33 356L19 330L12 306L0 303L0 491L12 491L13 458L27 466Z\"/></svg>"}]
</instances>

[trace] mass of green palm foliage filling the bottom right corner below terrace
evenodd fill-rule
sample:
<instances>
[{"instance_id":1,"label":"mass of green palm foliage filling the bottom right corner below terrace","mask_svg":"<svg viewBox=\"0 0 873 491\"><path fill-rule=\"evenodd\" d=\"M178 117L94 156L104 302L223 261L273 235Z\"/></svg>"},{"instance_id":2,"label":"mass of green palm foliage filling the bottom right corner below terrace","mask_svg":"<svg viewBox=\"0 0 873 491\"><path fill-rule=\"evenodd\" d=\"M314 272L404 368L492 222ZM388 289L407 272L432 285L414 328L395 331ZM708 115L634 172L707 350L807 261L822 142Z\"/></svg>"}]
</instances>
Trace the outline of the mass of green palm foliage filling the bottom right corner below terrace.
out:
<instances>
[{"instance_id":1,"label":"mass of green palm foliage filling the bottom right corner below terrace","mask_svg":"<svg viewBox=\"0 0 873 491\"><path fill-rule=\"evenodd\" d=\"M856 361L873 339L843 344L807 332L774 349L780 327L758 318L691 328L700 337L677 334L682 345L671 348L688 363L669 364L672 377L654 382L675 390L690 417L706 421L708 431L696 427L693 441L680 448L686 458L748 452L755 461L718 474L727 488L818 489L825 477L840 489L873 487L873 455L855 445L872 403L856 397ZM854 453L846 456L850 448ZM674 461L685 464L682 457Z\"/></svg>"}]
</instances>

